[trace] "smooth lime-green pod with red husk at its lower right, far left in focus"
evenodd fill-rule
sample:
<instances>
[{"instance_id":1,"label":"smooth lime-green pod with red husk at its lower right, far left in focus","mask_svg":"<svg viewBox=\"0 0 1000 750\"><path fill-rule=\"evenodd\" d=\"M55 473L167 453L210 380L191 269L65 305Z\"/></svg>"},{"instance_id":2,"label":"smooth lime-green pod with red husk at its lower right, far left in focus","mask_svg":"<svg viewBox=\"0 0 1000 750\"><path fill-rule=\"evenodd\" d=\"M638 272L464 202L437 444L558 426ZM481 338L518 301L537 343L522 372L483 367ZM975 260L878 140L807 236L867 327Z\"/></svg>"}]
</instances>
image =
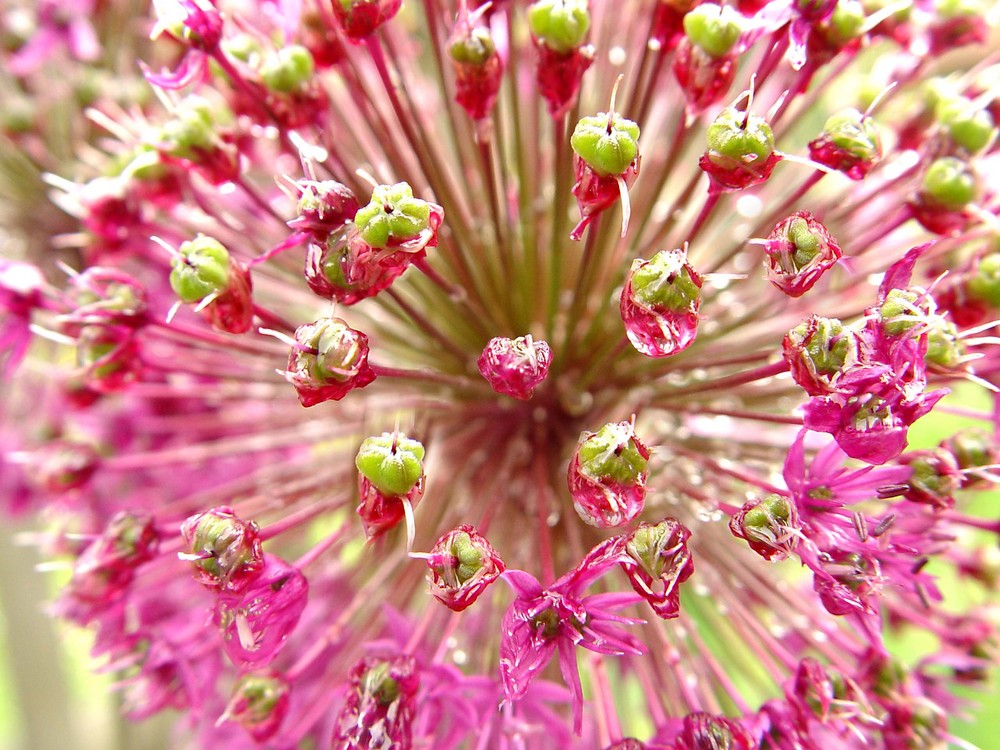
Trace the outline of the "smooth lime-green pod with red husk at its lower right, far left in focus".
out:
<instances>
[{"instance_id":1,"label":"smooth lime-green pod with red husk at its lower right, far left in focus","mask_svg":"<svg viewBox=\"0 0 1000 750\"><path fill-rule=\"evenodd\" d=\"M200 235L183 243L171 259L170 286L185 304L226 333L253 326L250 269L216 239Z\"/></svg>"}]
</instances>

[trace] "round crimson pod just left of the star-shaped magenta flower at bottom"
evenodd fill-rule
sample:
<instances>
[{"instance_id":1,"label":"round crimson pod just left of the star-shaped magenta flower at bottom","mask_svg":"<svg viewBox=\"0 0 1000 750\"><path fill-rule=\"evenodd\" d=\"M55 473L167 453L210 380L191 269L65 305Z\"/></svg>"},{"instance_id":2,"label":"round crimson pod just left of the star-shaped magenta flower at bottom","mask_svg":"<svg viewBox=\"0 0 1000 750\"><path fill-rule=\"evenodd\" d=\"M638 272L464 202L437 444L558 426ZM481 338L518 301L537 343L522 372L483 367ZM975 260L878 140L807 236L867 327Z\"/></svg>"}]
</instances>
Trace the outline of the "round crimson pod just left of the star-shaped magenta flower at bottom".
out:
<instances>
[{"instance_id":1,"label":"round crimson pod just left of the star-shaped magenta flower at bottom","mask_svg":"<svg viewBox=\"0 0 1000 750\"><path fill-rule=\"evenodd\" d=\"M475 527L462 524L438 539L427 557L431 593L461 612L506 570L500 555Z\"/></svg>"}]
</instances>

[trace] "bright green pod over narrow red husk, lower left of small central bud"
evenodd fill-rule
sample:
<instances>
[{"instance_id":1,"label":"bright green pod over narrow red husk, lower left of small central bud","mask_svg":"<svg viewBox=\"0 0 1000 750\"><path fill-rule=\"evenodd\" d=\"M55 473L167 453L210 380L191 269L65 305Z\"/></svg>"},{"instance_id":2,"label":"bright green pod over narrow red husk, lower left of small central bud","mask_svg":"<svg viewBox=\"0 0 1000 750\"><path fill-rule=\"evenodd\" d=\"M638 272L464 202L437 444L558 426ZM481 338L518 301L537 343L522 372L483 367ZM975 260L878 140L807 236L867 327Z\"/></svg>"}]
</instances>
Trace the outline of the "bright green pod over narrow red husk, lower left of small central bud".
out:
<instances>
[{"instance_id":1,"label":"bright green pod over narrow red husk, lower left of small central bud","mask_svg":"<svg viewBox=\"0 0 1000 750\"><path fill-rule=\"evenodd\" d=\"M374 539L402 521L424 494L424 446L399 432L366 438L358 449L358 515Z\"/></svg>"}]
</instances>

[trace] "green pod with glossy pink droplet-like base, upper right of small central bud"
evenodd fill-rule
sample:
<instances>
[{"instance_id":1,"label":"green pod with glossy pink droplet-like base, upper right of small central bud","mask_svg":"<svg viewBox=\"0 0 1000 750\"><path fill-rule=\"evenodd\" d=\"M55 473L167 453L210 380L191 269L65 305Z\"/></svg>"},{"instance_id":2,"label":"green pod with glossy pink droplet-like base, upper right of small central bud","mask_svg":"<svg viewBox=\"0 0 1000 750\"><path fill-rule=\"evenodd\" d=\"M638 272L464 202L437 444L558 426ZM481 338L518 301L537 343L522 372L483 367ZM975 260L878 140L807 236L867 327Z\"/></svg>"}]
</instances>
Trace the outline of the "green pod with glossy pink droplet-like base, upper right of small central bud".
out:
<instances>
[{"instance_id":1,"label":"green pod with glossy pink droplet-like base, upper right of small central bud","mask_svg":"<svg viewBox=\"0 0 1000 750\"><path fill-rule=\"evenodd\" d=\"M656 358L689 347L698 333L701 286L685 250L661 250L649 260L633 261L619 305L632 346Z\"/></svg>"}]
</instances>

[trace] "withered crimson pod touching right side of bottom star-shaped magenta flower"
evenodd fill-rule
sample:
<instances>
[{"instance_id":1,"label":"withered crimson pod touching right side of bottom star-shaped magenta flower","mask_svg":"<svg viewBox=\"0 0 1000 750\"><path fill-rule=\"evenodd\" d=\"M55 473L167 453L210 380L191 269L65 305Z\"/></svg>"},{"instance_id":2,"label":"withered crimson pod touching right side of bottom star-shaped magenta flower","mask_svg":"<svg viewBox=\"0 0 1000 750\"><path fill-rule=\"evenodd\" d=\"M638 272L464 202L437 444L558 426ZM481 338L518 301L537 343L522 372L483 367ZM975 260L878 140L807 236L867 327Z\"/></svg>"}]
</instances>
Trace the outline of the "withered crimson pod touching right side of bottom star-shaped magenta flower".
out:
<instances>
[{"instance_id":1,"label":"withered crimson pod touching right side of bottom star-shaped magenta flower","mask_svg":"<svg viewBox=\"0 0 1000 750\"><path fill-rule=\"evenodd\" d=\"M665 518L640 524L625 540L628 560L622 561L622 569L635 592L665 620L680 613L680 584L694 573L690 538L680 521Z\"/></svg>"}]
</instances>

